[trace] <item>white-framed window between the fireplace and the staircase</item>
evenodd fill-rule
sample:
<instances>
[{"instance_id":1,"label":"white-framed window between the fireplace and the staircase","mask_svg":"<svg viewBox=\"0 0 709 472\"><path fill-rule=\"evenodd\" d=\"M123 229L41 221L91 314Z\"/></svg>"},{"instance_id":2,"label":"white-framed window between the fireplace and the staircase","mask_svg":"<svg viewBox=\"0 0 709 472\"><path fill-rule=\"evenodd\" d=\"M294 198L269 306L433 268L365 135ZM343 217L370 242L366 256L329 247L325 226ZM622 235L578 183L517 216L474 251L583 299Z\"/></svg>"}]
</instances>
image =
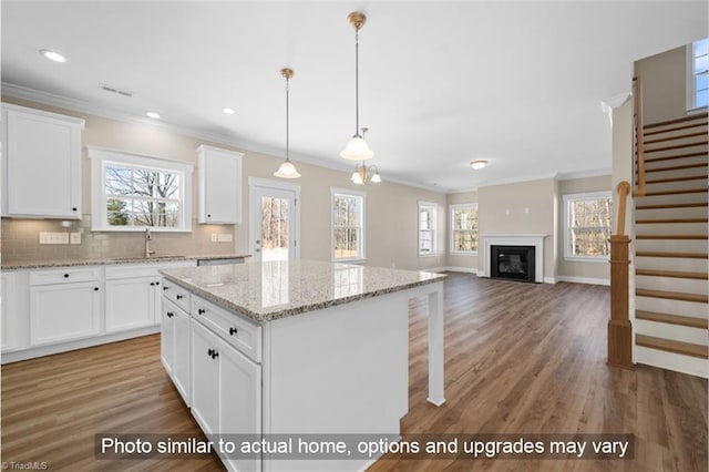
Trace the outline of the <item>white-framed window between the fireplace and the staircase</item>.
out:
<instances>
[{"instance_id":1,"label":"white-framed window between the fireplace and the staircase","mask_svg":"<svg viewBox=\"0 0 709 472\"><path fill-rule=\"evenodd\" d=\"M564 257L607 260L610 237L610 192L564 195Z\"/></svg>"}]
</instances>

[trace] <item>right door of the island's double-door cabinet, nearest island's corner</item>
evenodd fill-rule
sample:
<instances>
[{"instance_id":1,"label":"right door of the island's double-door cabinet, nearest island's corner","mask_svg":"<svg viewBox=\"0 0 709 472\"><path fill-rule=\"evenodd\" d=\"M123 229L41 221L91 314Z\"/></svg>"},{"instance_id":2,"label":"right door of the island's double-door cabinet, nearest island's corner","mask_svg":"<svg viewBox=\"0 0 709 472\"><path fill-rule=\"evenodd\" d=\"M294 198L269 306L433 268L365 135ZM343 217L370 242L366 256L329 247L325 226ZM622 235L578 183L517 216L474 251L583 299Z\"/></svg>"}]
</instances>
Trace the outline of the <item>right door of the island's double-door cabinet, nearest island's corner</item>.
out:
<instances>
[{"instance_id":1,"label":"right door of the island's double-door cabinet, nearest island's corner","mask_svg":"<svg viewBox=\"0 0 709 472\"><path fill-rule=\"evenodd\" d=\"M261 368L219 340L219 433L260 434ZM260 470L260 460L226 459L233 470Z\"/></svg>"}]
</instances>

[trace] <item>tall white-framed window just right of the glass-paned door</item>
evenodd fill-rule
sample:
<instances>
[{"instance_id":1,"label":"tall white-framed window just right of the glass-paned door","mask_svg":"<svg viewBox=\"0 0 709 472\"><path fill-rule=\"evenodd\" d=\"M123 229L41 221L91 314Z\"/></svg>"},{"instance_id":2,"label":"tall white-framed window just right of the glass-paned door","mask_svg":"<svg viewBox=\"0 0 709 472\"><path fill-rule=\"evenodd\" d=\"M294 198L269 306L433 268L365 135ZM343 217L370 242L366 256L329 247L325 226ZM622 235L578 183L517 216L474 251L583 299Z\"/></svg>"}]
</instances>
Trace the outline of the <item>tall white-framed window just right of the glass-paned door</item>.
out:
<instances>
[{"instance_id":1,"label":"tall white-framed window just right of the glass-paned door","mask_svg":"<svg viewBox=\"0 0 709 472\"><path fill-rule=\"evenodd\" d=\"M332 259L364 258L364 194L332 189Z\"/></svg>"}]
</instances>

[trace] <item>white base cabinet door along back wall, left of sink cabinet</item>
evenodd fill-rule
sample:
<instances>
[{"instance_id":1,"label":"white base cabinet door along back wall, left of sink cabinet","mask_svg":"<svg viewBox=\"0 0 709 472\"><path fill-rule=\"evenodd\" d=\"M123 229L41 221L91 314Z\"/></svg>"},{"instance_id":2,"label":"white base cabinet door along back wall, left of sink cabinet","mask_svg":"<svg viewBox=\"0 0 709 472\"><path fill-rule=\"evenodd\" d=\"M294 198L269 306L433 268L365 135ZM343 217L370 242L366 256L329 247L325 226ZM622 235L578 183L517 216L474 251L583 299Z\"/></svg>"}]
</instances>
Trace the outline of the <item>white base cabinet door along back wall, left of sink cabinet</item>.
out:
<instances>
[{"instance_id":1,"label":"white base cabinet door along back wall, left of sink cabinet","mask_svg":"<svg viewBox=\"0 0 709 472\"><path fill-rule=\"evenodd\" d=\"M95 336L102 316L99 283L30 288L32 346Z\"/></svg>"}]
</instances>

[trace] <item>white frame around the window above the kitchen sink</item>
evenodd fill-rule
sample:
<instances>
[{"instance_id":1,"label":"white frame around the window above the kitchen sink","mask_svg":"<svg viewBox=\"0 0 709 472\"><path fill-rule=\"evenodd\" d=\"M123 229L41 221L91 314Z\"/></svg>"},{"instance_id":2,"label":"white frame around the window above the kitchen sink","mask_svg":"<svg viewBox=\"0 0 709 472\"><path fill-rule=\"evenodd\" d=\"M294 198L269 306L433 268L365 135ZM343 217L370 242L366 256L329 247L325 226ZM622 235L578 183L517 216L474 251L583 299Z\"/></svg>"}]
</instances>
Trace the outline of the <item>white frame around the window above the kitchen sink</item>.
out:
<instances>
[{"instance_id":1,"label":"white frame around the window above the kitchen sink","mask_svg":"<svg viewBox=\"0 0 709 472\"><path fill-rule=\"evenodd\" d=\"M183 161L173 161L163 157L154 157L135 153L102 150L89 147L91 160L91 230L94 232L144 232L150 227L157 233L192 233L192 174L194 164ZM178 226L111 226L107 222L105 193L105 168L109 165L123 165L126 167L140 167L150 171L177 174L181 185L178 188L181 203L177 215Z\"/></svg>"}]
</instances>

